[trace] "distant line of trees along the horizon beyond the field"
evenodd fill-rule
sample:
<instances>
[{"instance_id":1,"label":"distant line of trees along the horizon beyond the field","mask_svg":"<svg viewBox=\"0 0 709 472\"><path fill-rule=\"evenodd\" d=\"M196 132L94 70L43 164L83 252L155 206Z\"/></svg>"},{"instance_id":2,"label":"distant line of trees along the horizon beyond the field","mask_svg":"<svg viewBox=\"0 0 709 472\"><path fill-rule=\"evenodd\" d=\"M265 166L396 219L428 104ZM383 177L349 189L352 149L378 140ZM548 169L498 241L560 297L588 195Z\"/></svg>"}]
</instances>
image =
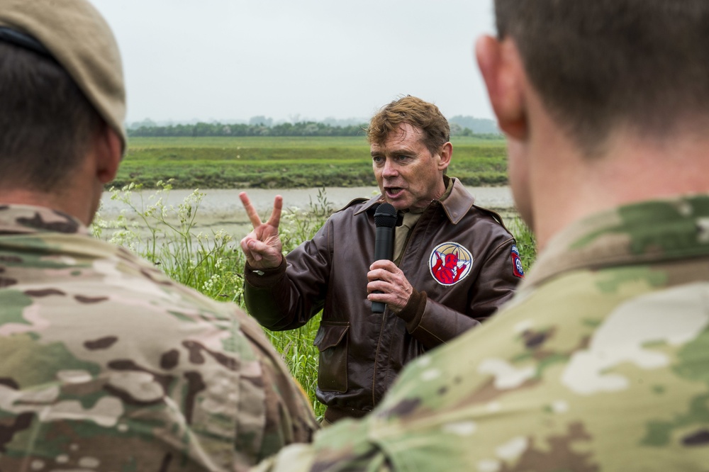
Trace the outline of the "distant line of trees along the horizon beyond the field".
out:
<instances>
[{"instance_id":1,"label":"distant line of trees along the horizon beyond the field","mask_svg":"<svg viewBox=\"0 0 709 472\"><path fill-rule=\"evenodd\" d=\"M367 123L360 125L329 125L316 121L301 121L298 123L191 123L174 125L141 125L138 128L128 128L131 137L172 137L172 136L363 136ZM500 134L474 133L470 128L464 128L457 123L451 123L451 135L476 136L481 138L499 139Z\"/></svg>"}]
</instances>

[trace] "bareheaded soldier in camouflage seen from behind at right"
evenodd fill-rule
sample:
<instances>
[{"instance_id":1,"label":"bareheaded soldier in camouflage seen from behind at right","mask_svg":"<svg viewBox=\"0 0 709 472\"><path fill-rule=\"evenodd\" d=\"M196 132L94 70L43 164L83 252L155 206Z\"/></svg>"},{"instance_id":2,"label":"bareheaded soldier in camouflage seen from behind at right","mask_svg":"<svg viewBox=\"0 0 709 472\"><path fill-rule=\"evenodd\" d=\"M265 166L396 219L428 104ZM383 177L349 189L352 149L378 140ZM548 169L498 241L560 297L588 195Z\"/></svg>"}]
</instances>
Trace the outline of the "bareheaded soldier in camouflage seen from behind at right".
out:
<instances>
[{"instance_id":1,"label":"bareheaded soldier in camouflage seen from behind at right","mask_svg":"<svg viewBox=\"0 0 709 472\"><path fill-rule=\"evenodd\" d=\"M476 53L540 257L273 470L708 470L709 2L495 3Z\"/></svg>"}]
</instances>

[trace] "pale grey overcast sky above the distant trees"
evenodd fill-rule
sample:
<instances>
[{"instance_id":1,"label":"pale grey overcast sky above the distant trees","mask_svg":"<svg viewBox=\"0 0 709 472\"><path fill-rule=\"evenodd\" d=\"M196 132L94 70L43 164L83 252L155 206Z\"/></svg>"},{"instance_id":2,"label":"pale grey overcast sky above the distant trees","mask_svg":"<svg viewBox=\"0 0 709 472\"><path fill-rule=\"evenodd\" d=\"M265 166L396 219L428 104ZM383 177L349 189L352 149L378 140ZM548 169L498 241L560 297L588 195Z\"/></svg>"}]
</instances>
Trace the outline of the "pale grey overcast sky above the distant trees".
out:
<instances>
[{"instance_id":1,"label":"pale grey overcast sky above the distant trees","mask_svg":"<svg viewBox=\"0 0 709 472\"><path fill-rule=\"evenodd\" d=\"M473 45L492 0L91 0L128 122L369 118L402 94L493 118Z\"/></svg>"}]
</instances>

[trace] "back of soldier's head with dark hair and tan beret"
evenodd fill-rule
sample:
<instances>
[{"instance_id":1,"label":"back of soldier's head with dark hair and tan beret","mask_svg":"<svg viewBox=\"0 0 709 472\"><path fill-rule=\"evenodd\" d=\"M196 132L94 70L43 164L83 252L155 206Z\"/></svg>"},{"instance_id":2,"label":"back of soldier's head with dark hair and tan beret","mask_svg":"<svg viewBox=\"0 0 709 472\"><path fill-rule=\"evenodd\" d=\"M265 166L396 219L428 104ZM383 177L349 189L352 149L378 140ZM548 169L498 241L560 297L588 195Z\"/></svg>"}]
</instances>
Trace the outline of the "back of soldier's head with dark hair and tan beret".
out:
<instances>
[{"instance_id":1,"label":"back of soldier's head with dark hair and tan beret","mask_svg":"<svg viewBox=\"0 0 709 472\"><path fill-rule=\"evenodd\" d=\"M0 0L0 28L4 189L56 191L104 123L125 149L118 45L88 1Z\"/></svg>"}]
</instances>

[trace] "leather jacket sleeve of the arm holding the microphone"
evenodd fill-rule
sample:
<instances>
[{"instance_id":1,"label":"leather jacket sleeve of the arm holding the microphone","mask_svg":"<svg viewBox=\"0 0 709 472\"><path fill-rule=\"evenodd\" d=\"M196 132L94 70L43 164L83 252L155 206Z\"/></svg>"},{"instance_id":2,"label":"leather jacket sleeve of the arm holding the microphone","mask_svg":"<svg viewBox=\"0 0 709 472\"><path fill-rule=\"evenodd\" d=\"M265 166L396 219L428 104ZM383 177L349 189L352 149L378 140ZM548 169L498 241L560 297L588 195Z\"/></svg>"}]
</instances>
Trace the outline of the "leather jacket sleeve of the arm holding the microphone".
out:
<instances>
[{"instance_id":1,"label":"leather jacket sleeve of the arm holding the microphone","mask_svg":"<svg viewBox=\"0 0 709 472\"><path fill-rule=\"evenodd\" d=\"M467 313L460 313L437 303L425 292L414 291L399 317L406 321L406 330L432 349L449 342L462 332L489 318L507 300L512 298L520 281L511 268L514 238L509 238L491 252L484 261L473 286Z\"/></svg>"}]
</instances>

